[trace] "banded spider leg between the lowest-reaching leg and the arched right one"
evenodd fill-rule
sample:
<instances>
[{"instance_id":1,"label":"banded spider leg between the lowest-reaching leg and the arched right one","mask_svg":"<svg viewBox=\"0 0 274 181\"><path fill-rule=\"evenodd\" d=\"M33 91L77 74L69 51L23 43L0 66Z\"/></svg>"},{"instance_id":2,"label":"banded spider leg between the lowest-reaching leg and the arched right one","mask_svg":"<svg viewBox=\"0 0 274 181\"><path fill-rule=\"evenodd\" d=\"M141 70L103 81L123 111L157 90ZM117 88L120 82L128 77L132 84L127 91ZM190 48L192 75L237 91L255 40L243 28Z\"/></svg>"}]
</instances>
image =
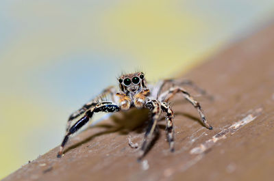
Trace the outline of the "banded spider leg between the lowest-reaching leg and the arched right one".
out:
<instances>
[{"instance_id":1,"label":"banded spider leg between the lowest-reaching leg and the arched right one","mask_svg":"<svg viewBox=\"0 0 274 181\"><path fill-rule=\"evenodd\" d=\"M166 112L166 137L169 141L169 149L174 152L174 128L173 128L173 111L166 102L161 102L162 111Z\"/></svg>"}]
</instances>

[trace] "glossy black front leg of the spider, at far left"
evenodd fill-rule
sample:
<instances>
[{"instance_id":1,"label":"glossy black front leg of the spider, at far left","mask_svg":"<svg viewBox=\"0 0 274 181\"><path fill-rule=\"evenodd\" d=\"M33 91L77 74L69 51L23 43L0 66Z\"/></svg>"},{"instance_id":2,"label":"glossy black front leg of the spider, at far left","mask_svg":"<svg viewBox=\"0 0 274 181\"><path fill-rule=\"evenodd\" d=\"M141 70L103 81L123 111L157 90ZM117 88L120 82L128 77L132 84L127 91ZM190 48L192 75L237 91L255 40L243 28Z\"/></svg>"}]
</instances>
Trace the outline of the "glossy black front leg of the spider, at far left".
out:
<instances>
[{"instance_id":1,"label":"glossy black front leg of the spider, at far left","mask_svg":"<svg viewBox=\"0 0 274 181\"><path fill-rule=\"evenodd\" d=\"M113 104L112 102L100 102L95 107L92 107L92 109L89 109L88 111L86 111L85 115L80 120L78 120L75 124L73 124L73 126L71 126L71 128L69 128L69 130L66 132L66 135L64 136L64 139L61 143L60 151L58 152L57 157L60 158L62 156L64 145L66 145L67 141L69 140L69 136L77 132L79 128L82 128L82 126L84 126L90 120L93 113L98 113L98 112L109 113L109 112L116 112L116 111L120 111L120 108L117 105Z\"/></svg>"}]
</instances>

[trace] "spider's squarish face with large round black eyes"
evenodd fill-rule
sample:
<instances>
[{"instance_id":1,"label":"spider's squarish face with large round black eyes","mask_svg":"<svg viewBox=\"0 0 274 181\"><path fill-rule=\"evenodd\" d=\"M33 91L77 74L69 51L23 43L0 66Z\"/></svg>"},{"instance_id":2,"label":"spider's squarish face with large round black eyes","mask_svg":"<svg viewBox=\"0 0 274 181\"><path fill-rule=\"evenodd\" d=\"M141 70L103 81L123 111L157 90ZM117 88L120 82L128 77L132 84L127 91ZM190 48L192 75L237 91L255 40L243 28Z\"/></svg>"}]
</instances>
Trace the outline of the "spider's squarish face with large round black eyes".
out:
<instances>
[{"instance_id":1,"label":"spider's squarish face with large round black eyes","mask_svg":"<svg viewBox=\"0 0 274 181\"><path fill-rule=\"evenodd\" d=\"M136 92L140 87L146 87L145 74L142 72L125 74L120 76L118 80L123 92Z\"/></svg>"}]
</instances>

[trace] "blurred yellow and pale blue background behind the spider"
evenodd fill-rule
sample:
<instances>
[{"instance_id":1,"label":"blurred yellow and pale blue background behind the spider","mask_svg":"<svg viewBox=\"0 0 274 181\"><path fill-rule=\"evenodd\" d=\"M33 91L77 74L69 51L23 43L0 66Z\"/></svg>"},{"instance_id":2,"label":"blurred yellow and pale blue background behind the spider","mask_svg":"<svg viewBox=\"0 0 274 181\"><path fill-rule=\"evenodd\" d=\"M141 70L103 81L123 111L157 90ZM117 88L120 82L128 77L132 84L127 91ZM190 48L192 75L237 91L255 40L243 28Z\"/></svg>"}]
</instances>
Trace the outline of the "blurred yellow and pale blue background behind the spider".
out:
<instances>
[{"instance_id":1,"label":"blurred yellow and pale blue background behind the spider","mask_svg":"<svg viewBox=\"0 0 274 181\"><path fill-rule=\"evenodd\" d=\"M0 179L59 145L122 71L176 76L273 15L272 0L1 0Z\"/></svg>"}]
</instances>

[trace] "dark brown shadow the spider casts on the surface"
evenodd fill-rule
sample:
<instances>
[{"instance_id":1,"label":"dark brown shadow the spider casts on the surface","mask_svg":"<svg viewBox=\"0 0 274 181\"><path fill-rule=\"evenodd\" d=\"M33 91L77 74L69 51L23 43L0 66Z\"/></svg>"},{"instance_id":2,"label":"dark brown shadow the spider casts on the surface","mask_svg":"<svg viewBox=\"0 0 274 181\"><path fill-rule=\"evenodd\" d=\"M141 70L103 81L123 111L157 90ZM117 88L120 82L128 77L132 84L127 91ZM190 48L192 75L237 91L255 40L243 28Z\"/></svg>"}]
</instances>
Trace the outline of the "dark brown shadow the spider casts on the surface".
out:
<instances>
[{"instance_id":1,"label":"dark brown shadow the spider casts on the surface","mask_svg":"<svg viewBox=\"0 0 274 181\"><path fill-rule=\"evenodd\" d=\"M195 120L201 123L198 117L195 117L193 115L190 115L188 113L182 113L177 112L176 115L183 115L184 117L188 117L192 120ZM130 109L129 111L121 112L119 115L112 115L110 117L110 120L112 120L112 124L97 124L94 126L89 126L83 131L89 130L91 128L105 128L105 130L96 133L94 135L91 135L90 137L87 137L86 139L79 141L78 143L75 143L74 145L71 145L69 148L64 150L64 153L69 152L69 150L72 150L74 148L77 148L78 146L87 143L94 139L95 137L99 137L101 135L106 135L110 133L119 133L121 135L127 135L129 133L135 132L135 133L144 133L148 124L149 124L149 110L148 109ZM158 123L161 123L164 120L164 117L158 121ZM159 128L164 130L166 128L165 124L158 124L157 128L155 129L155 135L153 139L151 140L151 143L149 145L148 150L145 152L149 152L153 145L158 141L160 137L160 131ZM144 155L145 156L145 155Z\"/></svg>"}]
</instances>

